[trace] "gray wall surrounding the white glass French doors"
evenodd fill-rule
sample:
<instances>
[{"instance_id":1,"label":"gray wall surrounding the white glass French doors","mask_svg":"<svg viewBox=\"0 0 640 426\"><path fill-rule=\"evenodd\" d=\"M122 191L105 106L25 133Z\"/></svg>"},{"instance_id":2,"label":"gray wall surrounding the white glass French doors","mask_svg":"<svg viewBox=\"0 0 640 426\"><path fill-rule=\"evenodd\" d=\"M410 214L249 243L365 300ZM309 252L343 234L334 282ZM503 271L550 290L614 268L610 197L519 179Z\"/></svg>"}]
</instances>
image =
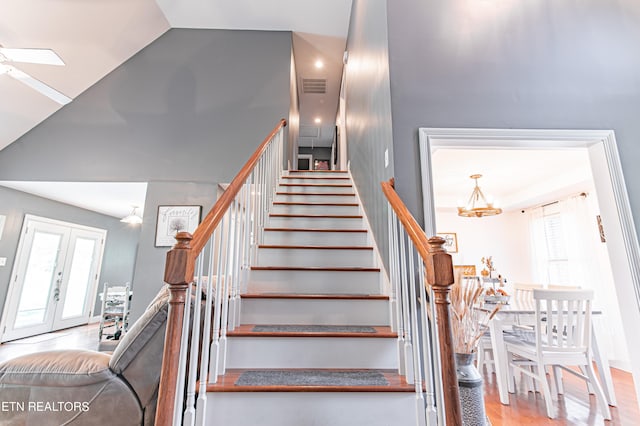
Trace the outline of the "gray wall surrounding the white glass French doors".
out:
<instances>
[{"instance_id":1,"label":"gray wall surrounding the white glass French doors","mask_svg":"<svg viewBox=\"0 0 640 426\"><path fill-rule=\"evenodd\" d=\"M0 306L3 309L25 214L106 229L107 240L97 291L101 291L102 284L105 282L112 284L131 282L140 235L139 228L121 223L110 216L5 187L0 187L0 214L7 216L2 239L0 239L0 257L7 258L7 265L0 266ZM99 313L100 303L96 300L94 314Z\"/></svg>"}]
</instances>

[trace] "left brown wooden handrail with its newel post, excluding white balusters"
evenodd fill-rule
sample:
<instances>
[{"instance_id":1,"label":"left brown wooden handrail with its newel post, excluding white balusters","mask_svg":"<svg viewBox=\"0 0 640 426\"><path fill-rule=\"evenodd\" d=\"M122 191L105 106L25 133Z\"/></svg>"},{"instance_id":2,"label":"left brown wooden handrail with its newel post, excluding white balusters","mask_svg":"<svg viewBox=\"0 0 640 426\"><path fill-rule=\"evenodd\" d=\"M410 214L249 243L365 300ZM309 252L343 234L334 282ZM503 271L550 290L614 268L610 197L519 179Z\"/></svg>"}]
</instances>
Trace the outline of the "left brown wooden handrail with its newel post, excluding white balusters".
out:
<instances>
[{"instance_id":1,"label":"left brown wooden handrail with its newel post, excluding white balusters","mask_svg":"<svg viewBox=\"0 0 640 426\"><path fill-rule=\"evenodd\" d=\"M188 232L179 232L176 235L178 242L167 252L164 280L169 284L169 310L160 372L160 387L158 389L156 426L171 426L173 424L186 290L193 281L196 259L213 235L216 227L220 224L227 210L231 207L233 200L242 189L247 178L255 169L260 157L267 150L269 142L286 125L287 121L284 118L280 120L247 163L240 169L236 177L233 178L193 235Z\"/></svg>"}]
</instances>

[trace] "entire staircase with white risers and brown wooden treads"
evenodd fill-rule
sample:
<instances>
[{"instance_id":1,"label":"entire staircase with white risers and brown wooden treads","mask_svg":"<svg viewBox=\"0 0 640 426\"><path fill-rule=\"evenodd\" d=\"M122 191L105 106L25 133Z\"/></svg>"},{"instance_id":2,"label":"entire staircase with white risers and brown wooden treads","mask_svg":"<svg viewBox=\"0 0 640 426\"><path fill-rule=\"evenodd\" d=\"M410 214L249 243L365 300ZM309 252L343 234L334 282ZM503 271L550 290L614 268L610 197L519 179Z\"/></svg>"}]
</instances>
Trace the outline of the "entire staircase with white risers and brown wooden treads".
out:
<instances>
[{"instance_id":1,"label":"entire staircase with white risers and brown wooden treads","mask_svg":"<svg viewBox=\"0 0 640 426\"><path fill-rule=\"evenodd\" d=\"M424 424L349 174L285 172L261 241L207 424Z\"/></svg>"}]
</instances>

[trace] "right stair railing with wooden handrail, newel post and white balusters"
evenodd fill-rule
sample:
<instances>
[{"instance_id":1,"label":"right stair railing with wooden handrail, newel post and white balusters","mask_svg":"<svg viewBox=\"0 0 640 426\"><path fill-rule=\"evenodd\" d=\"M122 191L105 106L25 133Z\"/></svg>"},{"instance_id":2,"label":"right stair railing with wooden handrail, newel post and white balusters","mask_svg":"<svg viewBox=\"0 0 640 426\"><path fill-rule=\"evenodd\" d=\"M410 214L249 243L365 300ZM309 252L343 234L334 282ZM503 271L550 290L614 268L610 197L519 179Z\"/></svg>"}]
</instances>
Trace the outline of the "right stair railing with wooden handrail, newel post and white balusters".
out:
<instances>
[{"instance_id":1,"label":"right stair railing with wooden handrail, newel post and white balusters","mask_svg":"<svg viewBox=\"0 0 640 426\"><path fill-rule=\"evenodd\" d=\"M419 418L424 414L427 424L461 425L450 319L451 255L443 238L427 238L396 193L393 179L381 185L388 201L389 278L400 372L415 386Z\"/></svg>"}]
</instances>

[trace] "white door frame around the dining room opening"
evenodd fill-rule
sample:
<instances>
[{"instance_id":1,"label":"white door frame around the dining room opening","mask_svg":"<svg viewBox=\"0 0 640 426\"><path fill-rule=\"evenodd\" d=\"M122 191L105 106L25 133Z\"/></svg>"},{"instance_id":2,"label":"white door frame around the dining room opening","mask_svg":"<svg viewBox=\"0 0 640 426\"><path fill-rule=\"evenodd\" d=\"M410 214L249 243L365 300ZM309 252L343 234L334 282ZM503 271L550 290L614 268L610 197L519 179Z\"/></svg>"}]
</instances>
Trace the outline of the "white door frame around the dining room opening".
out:
<instances>
[{"instance_id":1,"label":"white door frame around the dining room opening","mask_svg":"<svg viewBox=\"0 0 640 426\"><path fill-rule=\"evenodd\" d=\"M611 267L631 360L636 395L640 396L640 245L613 130L520 130L420 128L420 165L424 227L435 235L432 150L447 148L566 149L587 148L607 230Z\"/></svg>"}]
</instances>

